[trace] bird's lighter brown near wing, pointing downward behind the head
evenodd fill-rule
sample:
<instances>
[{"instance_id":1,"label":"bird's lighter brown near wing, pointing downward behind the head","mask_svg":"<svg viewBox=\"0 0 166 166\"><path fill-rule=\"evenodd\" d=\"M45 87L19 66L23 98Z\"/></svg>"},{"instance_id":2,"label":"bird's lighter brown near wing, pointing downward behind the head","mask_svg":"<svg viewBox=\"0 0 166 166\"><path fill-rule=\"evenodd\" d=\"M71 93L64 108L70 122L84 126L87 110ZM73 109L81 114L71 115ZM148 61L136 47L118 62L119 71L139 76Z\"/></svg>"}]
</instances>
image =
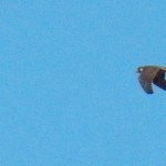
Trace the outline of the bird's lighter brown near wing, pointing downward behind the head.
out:
<instances>
[{"instance_id":1,"label":"bird's lighter brown near wing, pointing downward behind the head","mask_svg":"<svg viewBox=\"0 0 166 166\"><path fill-rule=\"evenodd\" d=\"M143 90L148 94L153 93L152 82L155 75L157 74L158 70L158 68L146 68L138 77Z\"/></svg>"}]
</instances>

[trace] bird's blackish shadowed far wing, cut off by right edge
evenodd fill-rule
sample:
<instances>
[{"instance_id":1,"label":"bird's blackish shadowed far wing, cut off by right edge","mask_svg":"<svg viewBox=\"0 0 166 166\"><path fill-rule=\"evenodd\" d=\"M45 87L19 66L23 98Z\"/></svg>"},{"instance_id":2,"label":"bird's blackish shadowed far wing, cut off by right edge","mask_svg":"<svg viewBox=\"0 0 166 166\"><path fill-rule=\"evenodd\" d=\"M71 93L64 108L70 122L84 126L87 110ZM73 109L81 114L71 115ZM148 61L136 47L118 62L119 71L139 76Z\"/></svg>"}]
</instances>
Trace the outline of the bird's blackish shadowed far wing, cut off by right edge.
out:
<instances>
[{"instance_id":1,"label":"bird's blackish shadowed far wing, cut off by right edge","mask_svg":"<svg viewBox=\"0 0 166 166\"><path fill-rule=\"evenodd\" d=\"M153 83L166 91L165 71L159 70L156 76L154 77Z\"/></svg>"}]
</instances>

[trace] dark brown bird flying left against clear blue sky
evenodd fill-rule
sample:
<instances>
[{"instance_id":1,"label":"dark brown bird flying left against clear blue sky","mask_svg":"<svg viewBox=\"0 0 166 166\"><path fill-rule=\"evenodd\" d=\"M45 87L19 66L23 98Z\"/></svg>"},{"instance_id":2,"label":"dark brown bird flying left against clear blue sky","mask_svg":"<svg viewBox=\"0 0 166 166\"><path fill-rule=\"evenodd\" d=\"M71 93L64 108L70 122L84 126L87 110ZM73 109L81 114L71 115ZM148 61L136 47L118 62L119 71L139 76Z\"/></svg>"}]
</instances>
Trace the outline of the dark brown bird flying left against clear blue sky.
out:
<instances>
[{"instance_id":1,"label":"dark brown bird flying left against clear blue sky","mask_svg":"<svg viewBox=\"0 0 166 166\"><path fill-rule=\"evenodd\" d=\"M157 65L144 65L137 68L138 81L147 94L153 94L152 83L166 91L166 68Z\"/></svg>"}]
</instances>

